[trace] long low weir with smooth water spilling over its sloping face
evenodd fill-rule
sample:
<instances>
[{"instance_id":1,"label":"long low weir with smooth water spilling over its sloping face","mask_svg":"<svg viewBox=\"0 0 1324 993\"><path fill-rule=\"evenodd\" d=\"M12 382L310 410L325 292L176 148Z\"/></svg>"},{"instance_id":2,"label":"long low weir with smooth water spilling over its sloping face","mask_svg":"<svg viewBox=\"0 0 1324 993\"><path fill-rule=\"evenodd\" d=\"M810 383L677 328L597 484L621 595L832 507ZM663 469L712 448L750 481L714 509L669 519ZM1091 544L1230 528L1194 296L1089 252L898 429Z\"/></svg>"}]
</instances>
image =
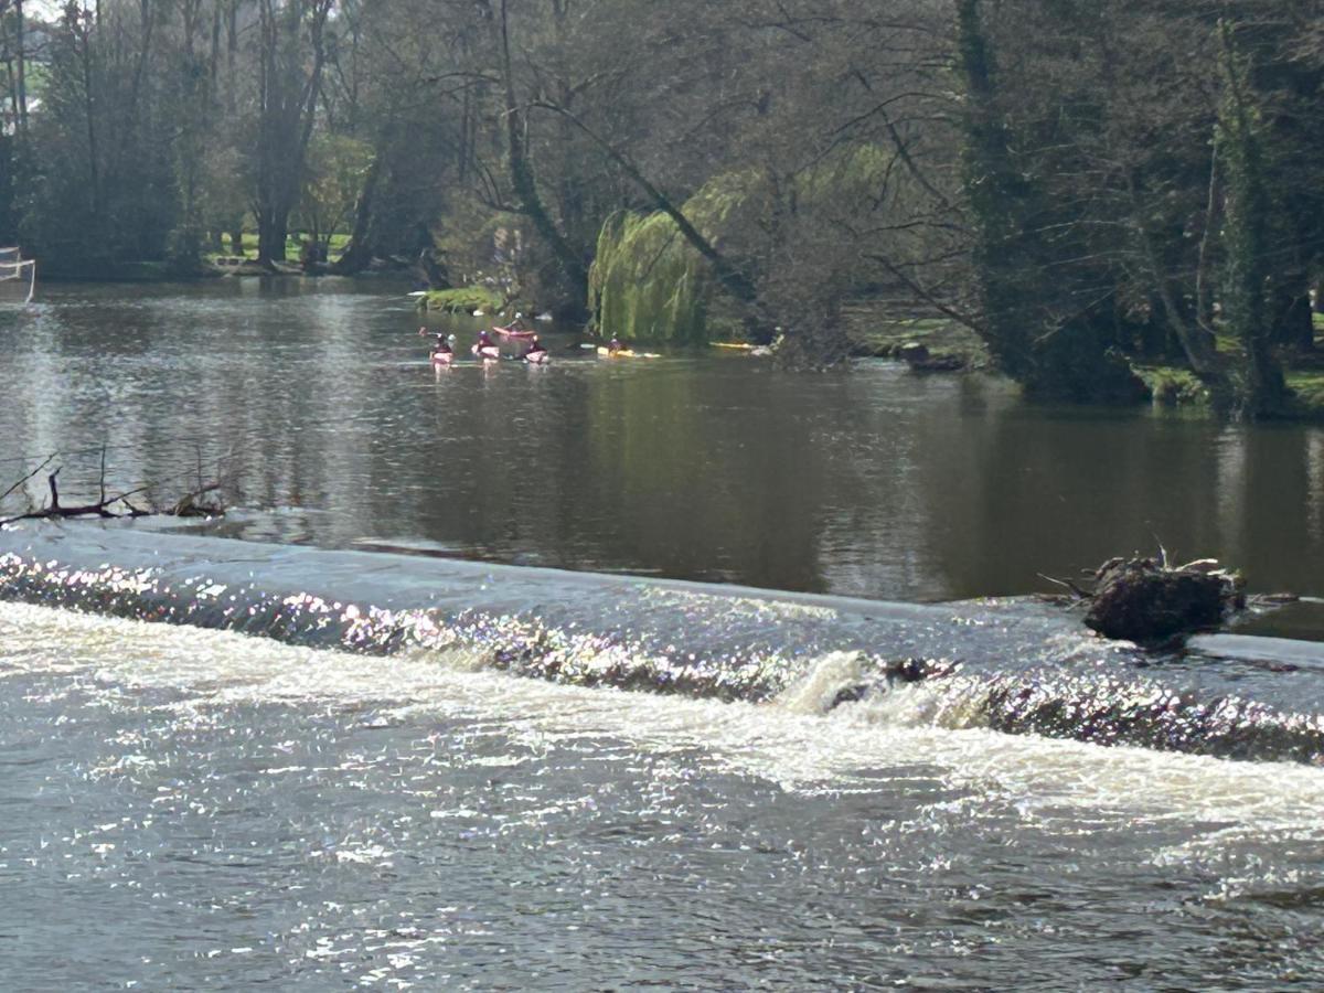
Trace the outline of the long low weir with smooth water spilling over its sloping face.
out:
<instances>
[{"instance_id":1,"label":"long low weir with smooth water spilling over its sloping face","mask_svg":"<svg viewBox=\"0 0 1324 993\"><path fill-rule=\"evenodd\" d=\"M1324 760L1319 646L1214 636L1193 655L1147 655L1031 600L875 602L123 522L0 531L0 597L589 687Z\"/></svg>"}]
</instances>

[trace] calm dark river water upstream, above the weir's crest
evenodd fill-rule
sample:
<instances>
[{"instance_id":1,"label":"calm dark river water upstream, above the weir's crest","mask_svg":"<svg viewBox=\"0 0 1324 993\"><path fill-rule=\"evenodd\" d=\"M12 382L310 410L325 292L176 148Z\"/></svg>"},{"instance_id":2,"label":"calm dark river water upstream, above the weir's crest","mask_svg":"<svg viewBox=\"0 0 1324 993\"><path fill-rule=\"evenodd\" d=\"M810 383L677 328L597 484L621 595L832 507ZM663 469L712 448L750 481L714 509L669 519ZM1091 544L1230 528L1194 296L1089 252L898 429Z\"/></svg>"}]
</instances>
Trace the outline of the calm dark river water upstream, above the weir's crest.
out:
<instances>
[{"instance_id":1,"label":"calm dark river water upstream, above the weir's crest","mask_svg":"<svg viewBox=\"0 0 1324 993\"><path fill-rule=\"evenodd\" d=\"M230 532L338 547L937 601L1045 589L1039 572L1161 540L1253 589L1324 593L1319 428L1026 408L982 377L739 355L559 352L437 380L384 289L48 287L0 311L0 458L106 442L135 485L233 450L244 504L295 510ZM95 455L65 463L69 487L95 478Z\"/></svg>"}]
</instances>

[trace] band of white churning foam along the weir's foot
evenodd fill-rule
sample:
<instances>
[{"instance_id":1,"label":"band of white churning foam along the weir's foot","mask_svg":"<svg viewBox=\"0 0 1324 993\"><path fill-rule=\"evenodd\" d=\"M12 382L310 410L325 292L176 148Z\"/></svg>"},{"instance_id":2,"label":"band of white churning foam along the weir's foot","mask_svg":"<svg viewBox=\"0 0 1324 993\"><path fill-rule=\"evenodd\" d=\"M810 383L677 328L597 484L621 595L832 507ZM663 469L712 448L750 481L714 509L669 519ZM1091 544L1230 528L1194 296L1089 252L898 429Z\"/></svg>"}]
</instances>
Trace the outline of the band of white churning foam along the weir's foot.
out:
<instances>
[{"instance_id":1,"label":"band of white churning foam along the weir's foot","mask_svg":"<svg viewBox=\"0 0 1324 993\"><path fill-rule=\"evenodd\" d=\"M867 789L880 771L936 776L1051 830L1076 830L1090 812L1115 824L1209 825L1209 838L1324 837L1321 769L933 727L919 716L936 692L925 685L824 715L813 704L858 665L846 653L821 659L784 698L751 704L518 679L477 667L463 650L365 658L20 604L0 604L0 678L82 673L107 695L172 690L184 696L168 706L189 715L371 704L387 723L418 714L499 722L531 747L610 735L647 751L698 748L715 767L806 793Z\"/></svg>"}]
</instances>

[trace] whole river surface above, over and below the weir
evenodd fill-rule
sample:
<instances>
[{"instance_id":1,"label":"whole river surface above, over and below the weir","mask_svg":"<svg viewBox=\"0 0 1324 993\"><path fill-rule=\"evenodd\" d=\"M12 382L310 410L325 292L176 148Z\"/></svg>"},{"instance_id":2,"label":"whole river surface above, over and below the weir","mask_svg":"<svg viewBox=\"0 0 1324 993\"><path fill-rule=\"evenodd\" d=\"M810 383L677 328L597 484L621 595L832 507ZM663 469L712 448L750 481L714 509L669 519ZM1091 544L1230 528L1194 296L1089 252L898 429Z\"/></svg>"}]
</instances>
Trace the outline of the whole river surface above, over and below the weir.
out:
<instances>
[{"instance_id":1,"label":"whole river surface above, over and below the weir","mask_svg":"<svg viewBox=\"0 0 1324 993\"><path fill-rule=\"evenodd\" d=\"M1155 535L1320 592L1317 430L437 379L416 330L332 281L0 314L0 458L94 449L71 500L103 442L123 486L224 455L245 504L0 534L7 988L1324 982L1324 653L936 604Z\"/></svg>"}]
</instances>

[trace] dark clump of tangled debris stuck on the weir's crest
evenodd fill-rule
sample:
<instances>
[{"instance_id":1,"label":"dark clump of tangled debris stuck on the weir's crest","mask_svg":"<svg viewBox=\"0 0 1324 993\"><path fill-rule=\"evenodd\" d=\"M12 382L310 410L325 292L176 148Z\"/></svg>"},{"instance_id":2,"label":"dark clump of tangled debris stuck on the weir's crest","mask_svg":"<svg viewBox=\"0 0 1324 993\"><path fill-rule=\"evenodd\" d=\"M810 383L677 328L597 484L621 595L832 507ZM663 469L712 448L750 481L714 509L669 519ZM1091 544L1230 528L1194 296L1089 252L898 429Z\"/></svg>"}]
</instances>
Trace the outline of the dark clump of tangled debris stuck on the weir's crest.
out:
<instances>
[{"instance_id":1,"label":"dark clump of tangled debris stuck on the weir's crest","mask_svg":"<svg viewBox=\"0 0 1324 993\"><path fill-rule=\"evenodd\" d=\"M1209 569L1169 569L1152 559L1113 559L1095 575L1084 622L1108 638L1156 642L1217 626L1245 605L1241 577Z\"/></svg>"}]
</instances>

